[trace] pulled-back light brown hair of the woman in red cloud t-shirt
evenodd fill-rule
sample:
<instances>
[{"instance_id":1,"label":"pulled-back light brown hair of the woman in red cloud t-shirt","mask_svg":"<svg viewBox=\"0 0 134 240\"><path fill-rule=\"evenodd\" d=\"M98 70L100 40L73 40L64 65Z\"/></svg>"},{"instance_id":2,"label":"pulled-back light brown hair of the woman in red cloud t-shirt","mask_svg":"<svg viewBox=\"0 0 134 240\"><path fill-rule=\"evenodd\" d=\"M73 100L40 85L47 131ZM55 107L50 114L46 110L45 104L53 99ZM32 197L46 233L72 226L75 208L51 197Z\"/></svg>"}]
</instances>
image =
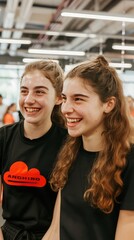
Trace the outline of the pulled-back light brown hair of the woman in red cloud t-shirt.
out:
<instances>
[{"instance_id":1,"label":"pulled-back light brown hair of the woman in red cloud t-shirt","mask_svg":"<svg viewBox=\"0 0 134 240\"><path fill-rule=\"evenodd\" d=\"M40 71L46 78L52 83L56 95L61 96L61 91L63 87L63 70L60 65L52 60L40 60L27 64L23 75L21 76L21 81L23 77L35 70ZM61 114L61 105L55 105L51 115L52 121L64 127L64 118Z\"/></svg>"}]
</instances>

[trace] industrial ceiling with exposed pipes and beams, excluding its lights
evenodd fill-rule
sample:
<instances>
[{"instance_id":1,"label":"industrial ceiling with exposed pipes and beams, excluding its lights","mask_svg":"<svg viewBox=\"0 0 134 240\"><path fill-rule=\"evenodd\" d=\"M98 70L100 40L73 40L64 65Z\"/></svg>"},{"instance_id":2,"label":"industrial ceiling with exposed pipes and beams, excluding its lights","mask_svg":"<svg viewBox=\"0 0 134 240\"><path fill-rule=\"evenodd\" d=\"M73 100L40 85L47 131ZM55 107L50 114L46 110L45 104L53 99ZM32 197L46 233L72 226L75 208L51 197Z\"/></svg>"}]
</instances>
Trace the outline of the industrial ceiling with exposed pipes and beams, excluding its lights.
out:
<instances>
[{"instance_id":1,"label":"industrial ceiling with exposed pipes and beams, excluding its lights","mask_svg":"<svg viewBox=\"0 0 134 240\"><path fill-rule=\"evenodd\" d=\"M64 9L134 16L134 0L0 0L0 38L31 40L29 45L1 43L0 64L53 58L64 66L101 53L112 62L131 63L134 69L133 50L112 49L113 43L134 45L133 22L63 17ZM40 53L29 53L30 48ZM48 55L42 54L43 49L84 51L85 55Z\"/></svg>"}]
</instances>

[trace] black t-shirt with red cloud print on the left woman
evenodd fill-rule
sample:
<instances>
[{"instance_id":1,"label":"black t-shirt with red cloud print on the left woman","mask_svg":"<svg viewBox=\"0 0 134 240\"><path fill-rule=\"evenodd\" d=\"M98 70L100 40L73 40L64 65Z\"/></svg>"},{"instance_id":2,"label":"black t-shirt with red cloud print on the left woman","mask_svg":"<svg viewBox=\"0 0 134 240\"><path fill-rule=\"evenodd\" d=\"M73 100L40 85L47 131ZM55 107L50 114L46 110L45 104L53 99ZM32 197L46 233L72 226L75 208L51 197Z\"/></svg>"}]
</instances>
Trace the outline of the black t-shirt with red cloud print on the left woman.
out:
<instances>
[{"instance_id":1,"label":"black t-shirt with red cloud print on the left woman","mask_svg":"<svg viewBox=\"0 0 134 240\"><path fill-rule=\"evenodd\" d=\"M66 130L53 125L42 137L24 137L23 121L0 128L3 218L22 229L48 229L56 199L48 183Z\"/></svg>"}]
</instances>

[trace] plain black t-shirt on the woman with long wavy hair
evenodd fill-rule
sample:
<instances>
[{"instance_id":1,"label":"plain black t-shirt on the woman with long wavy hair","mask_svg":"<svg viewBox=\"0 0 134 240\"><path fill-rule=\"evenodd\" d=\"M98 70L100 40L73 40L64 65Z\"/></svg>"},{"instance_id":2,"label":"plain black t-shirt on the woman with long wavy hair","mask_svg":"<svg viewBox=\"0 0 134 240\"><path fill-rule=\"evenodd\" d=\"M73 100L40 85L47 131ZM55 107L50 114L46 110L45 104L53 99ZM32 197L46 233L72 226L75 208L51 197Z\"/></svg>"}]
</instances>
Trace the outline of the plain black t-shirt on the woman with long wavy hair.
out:
<instances>
[{"instance_id":1,"label":"plain black t-shirt on the woman with long wavy hair","mask_svg":"<svg viewBox=\"0 0 134 240\"><path fill-rule=\"evenodd\" d=\"M61 240L114 240L119 210L134 210L134 147L127 156L121 202L115 204L110 214L91 207L83 199L87 175L96 156L95 152L80 149L70 169L67 184L61 192Z\"/></svg>"}]
</instances>

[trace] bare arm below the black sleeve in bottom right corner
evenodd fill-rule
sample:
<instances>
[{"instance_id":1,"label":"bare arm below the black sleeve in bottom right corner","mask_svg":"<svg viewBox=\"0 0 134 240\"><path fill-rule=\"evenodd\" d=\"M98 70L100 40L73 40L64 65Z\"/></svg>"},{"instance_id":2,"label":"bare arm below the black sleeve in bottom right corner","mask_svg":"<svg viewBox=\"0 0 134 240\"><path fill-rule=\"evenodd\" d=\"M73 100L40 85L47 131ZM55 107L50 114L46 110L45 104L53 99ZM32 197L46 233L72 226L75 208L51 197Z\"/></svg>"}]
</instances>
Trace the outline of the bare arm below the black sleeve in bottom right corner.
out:
<instances>
[{"instance_id":1,"label":"bare arm below the black sleeve in bottom right corner","mask_svg":"<svg viewBox=\"0 0 134 240\"><path fill-rule=\"evenodd\" d=\"M134 240L134 211L121 210L119 213L115 240Z\"/></svg>"}]
</instances>

